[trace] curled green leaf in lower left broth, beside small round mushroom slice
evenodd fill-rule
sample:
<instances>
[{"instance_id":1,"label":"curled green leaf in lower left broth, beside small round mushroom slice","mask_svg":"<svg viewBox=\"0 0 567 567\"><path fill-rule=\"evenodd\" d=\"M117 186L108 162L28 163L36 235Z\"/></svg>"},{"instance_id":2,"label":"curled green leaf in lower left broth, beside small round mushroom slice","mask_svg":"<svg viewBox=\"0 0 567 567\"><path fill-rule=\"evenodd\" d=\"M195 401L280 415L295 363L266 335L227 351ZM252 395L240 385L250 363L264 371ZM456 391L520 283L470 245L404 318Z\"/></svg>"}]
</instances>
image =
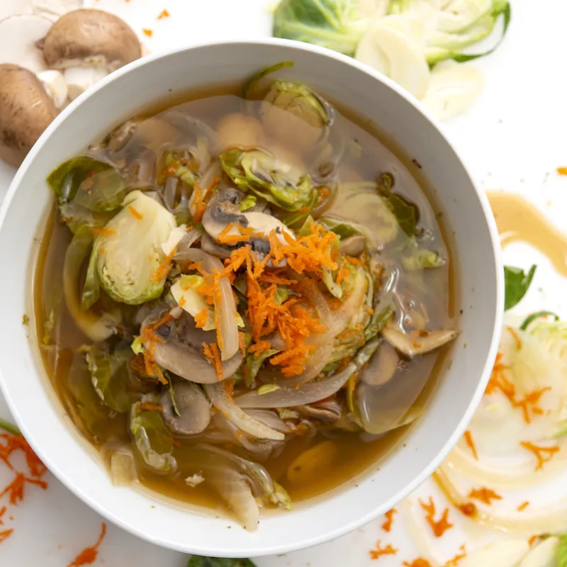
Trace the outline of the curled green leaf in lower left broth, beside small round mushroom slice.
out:
<instances>
[{"instance_id":1,"label":"curled green leaf in lower left broth, beside small round mushroom slice","mask_svg":"<svg viewBox=\"0 0 567 567\"><path fill-rule=\"evenodd\" d=\"M130 432L144 463L156 471L167 473L176 469L172 456L173 437L156 411L144 411L143 402L136 402L130 413Z\"/></svg>"}]
</instances>

